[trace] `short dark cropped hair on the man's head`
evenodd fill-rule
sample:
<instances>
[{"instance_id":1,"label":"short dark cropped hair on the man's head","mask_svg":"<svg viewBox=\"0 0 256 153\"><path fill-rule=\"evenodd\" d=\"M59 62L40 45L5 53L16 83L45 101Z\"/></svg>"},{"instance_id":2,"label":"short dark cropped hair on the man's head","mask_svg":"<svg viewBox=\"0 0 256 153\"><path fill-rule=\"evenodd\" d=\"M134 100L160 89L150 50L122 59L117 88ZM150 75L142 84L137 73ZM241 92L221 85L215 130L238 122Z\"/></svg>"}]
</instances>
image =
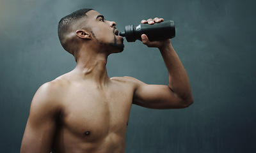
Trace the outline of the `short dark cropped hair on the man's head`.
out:
<instances>
[{"instance_id":1,"label":"short dark cropped hair on the man's head","mask_svg":"<svg viewBox=\"0 0 256 153\"><path fill-rule=\"evenodd\" d=\"M86 13L90 10L93 10L92 8L83 8L77 11L74 11L73 13L70 13L69 15L61 18L59 25L58 25L58 36L60 39L60 43L62 47L67 50L70 54L74 55L74 48L70 48L67 45L67 42L65 40L68 32L70 31L71 25L76 23L79 19L86 17Z\"/></svg>"}]
</instances>

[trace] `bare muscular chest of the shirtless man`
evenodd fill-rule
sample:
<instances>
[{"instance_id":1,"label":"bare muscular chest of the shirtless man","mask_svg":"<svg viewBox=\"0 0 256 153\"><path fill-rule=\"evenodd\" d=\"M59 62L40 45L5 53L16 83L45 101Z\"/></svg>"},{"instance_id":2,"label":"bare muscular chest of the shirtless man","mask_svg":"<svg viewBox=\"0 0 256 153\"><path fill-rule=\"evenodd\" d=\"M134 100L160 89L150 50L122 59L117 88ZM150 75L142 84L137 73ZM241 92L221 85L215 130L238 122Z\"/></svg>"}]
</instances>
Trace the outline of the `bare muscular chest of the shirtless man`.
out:
<instances>
[{"instance_id":1,"label":"bare muscular chest of the shirtless man","mask_svg":"<svg viewBox=\"0 0 256 153\"><path fill-rule=\"evenodd\" d=\"M122 88L77 87L64 95L62 128L77 136L100 138L126 132L133 92Z\"/></svg>"}]
</instances>

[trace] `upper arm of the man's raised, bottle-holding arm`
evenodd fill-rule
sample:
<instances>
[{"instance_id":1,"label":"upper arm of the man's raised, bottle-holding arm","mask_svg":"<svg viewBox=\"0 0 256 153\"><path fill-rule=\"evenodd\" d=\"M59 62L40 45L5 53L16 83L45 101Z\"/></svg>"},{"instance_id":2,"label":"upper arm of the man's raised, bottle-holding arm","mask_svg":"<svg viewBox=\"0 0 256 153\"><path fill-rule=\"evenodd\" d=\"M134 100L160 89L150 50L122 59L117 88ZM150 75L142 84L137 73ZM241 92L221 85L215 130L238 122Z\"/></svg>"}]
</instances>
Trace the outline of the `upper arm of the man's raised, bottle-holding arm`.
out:
<instances>
[{"instance_id":1,"label":"upper arm of the man's raised, bottle-holding arm","mask_svg":"<svg viewBox=\"0 0 256 153\"><path fill-rule=\"evenodd\" d=\"M192 100L180 98L168 85L148 85L140 80L136 80L136 90L134 92L133 103L135 105L155 108L186 108L191 105Z\"/></svg>"}]
</instances>

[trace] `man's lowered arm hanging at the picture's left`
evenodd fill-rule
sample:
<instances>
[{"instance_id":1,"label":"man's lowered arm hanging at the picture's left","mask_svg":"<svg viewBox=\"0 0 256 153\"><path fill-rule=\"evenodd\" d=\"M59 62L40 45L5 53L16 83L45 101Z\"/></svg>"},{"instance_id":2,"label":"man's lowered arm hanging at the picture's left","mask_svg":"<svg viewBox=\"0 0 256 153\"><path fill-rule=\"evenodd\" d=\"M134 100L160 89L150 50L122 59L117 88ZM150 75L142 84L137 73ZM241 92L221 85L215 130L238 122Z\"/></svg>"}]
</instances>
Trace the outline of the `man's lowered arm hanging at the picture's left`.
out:
<instances>
[{"instance_id":1,"label":"man's lowered arm hanging at the picture's left","mask_svg":"<svg viewBox=\"0 0 256 153\"><path fill-rule=\"evenodd\" d=\"M60 106L56 85L42 85L32 100L20 152L51 152Z\"/></svg>"}]
</instances>

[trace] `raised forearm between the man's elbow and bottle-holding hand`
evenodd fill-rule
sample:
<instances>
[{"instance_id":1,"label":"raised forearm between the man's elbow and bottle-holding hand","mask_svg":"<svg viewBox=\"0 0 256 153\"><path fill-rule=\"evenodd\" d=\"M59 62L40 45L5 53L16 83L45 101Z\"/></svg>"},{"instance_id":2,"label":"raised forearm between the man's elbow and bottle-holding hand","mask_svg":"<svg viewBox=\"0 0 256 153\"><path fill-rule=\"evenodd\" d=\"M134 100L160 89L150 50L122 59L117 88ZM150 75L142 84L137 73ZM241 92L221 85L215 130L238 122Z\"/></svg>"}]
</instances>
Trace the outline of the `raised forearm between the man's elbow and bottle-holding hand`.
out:
<instances>
[{"instance_id":1,"label":"raised forearm between the man's elbow and bottle-holding hand","mask_svg":"<svg viewBox=\"0 0 256 153\"><path fill-rule=\"evenodd\" d=\"M159 48L169 74L170 89L182 99L192 98L189 78L178 55L170 43L166 41L163 47Z\"/></svg>"}]
</instances>

